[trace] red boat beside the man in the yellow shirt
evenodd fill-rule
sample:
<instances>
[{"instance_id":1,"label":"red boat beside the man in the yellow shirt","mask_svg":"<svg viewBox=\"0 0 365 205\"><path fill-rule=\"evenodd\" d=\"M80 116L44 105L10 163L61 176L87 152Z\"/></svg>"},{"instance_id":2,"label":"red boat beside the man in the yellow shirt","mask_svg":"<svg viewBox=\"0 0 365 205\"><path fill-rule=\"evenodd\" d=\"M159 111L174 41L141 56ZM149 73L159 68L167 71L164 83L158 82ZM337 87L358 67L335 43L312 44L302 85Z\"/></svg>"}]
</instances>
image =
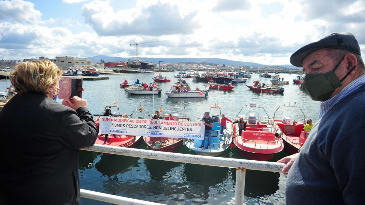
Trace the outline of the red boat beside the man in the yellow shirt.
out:
<instances>
[{"instance_id":1,"label":"red boat beside the man in the yellow shirt","mask_svg":"<svg viewBox=\"0 0 365 205\"><path fill-rule=\"evenodd\" d=\"M298 153L298 150L303 147L310 133L303 130L306 125L306 116L300 107L295 106L295 104L296 103L294 103L294 106L290 106L290 104L289 106L285 104L280 105L274 112L274 121L272 121L274 131L280 133L281 138L284 140L284 150L289 154ZM278 117L278 113L283 116L285 111L281 112L280 110L280 108L283 107L286 112L290 111L291 113L296 113L296 116L299 116L297 114L299 112L296 112L295 110L299 110L302 113L302 116L298 117L299 119L293 119L293 123L291 123L291 119L287 116Z\"/></svg>"}]
</instances>

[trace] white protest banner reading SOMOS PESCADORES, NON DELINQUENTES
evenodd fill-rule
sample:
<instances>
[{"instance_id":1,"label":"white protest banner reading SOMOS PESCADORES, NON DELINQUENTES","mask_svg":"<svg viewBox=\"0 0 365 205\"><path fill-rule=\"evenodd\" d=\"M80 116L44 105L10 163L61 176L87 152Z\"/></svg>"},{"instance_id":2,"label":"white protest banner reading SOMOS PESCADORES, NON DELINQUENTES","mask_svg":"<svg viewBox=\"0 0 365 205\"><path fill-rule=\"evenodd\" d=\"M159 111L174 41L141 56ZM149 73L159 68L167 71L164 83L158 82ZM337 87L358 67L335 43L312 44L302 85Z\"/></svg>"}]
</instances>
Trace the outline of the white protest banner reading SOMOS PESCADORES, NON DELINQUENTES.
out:
<instances>
[{"instance_id":1,"label":"white protest banner reading SOMOS PESCADORES, NON DELINQUENTES","mask_svg":"<svg viewBox=\"0 0 365 205\"><path fill-rule=\"evenodd\" d=\"M101 134L203 139L203 122L100 116Z\"/></svg>"}]
</instances>

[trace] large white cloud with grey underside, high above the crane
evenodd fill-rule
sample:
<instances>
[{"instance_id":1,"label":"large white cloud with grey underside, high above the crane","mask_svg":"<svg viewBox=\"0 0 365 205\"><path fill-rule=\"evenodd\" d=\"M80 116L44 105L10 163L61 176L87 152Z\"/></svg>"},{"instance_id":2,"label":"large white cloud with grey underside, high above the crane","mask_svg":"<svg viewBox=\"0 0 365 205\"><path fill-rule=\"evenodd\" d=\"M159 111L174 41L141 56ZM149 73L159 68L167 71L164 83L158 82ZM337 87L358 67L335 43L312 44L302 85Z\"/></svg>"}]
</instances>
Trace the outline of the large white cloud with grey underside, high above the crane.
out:
<instances>
[{"instance_id":1,"label":"large white cloud with grey underside, high above the crane","mask_svg":"<svg viewBox=\"0 0 365 205\"><path fill-rule=\"evenodd\" d=\"M97 0L81 10L85 22L91 24L97 34L105 36L192 34L200 27L193 20L197 11L183 15L177 5L158 1L147 3L114 12L107 2Z\"/></svg>"}]
</instances>

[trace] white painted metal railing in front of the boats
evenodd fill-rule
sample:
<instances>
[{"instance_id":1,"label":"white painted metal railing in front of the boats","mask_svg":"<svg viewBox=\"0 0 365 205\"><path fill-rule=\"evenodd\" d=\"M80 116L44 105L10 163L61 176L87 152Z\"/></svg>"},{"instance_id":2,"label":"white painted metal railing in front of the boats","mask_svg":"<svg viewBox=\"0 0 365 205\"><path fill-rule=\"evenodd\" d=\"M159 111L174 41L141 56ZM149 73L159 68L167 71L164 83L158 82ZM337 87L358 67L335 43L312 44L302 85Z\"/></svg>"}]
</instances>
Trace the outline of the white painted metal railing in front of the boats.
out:
<instances>
[{"instance_id":1,"label":"white painted metal railing in front of the boats","mask_svg":"<svg viewBox=\"0 0 365 205\"><path fill-rule=\"evenodd\" d=\"M243 204L246 169L281 172L281 169L283 169L283 166L285 165L284 163L276 163L276 162L262 162L262 161L246 160L246 159L179 154L173 152L160 152L160 151L141 150L135 148L126 148L126 147L114 147L101 144L95 144L90 147L82 148L81 150L104 152L104 153L124 155L124 156L134 156L146 159L157 159L170 162L235 168L237 170L236 186L235 186L236 205ZM81 197L110 202L113 204L155 204L153 202L114 196L111 194L93 192L84 189L80 189L80 192L81 192Z\"/></svg>"}]
</instances>

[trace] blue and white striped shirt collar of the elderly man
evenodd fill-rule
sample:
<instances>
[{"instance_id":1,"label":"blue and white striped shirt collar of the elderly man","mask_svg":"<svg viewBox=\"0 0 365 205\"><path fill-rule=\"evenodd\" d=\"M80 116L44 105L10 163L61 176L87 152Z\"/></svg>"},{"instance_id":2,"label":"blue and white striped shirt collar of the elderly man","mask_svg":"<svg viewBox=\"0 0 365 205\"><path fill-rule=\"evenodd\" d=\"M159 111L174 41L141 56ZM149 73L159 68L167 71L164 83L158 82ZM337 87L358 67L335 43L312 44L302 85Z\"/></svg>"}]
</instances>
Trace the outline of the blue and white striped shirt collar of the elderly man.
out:
<instances>
[{"instance_id":1,"label":"blue and white striped shirt collar of the elderly man","mask_svg":"<svg viewBox=\"0 0 365 205\"><path fill-rule=\"evenodd\" d=\"M318 119L321 119L337 102L341 101L343 98L353 93L355 90L357 90L364 84L365 84L365 74L356 78L354 81L350 82L335 96L331 97L330 99L324 102L321 102Z\"/></svg>"}]
</instances>

